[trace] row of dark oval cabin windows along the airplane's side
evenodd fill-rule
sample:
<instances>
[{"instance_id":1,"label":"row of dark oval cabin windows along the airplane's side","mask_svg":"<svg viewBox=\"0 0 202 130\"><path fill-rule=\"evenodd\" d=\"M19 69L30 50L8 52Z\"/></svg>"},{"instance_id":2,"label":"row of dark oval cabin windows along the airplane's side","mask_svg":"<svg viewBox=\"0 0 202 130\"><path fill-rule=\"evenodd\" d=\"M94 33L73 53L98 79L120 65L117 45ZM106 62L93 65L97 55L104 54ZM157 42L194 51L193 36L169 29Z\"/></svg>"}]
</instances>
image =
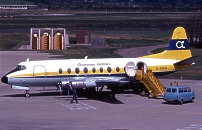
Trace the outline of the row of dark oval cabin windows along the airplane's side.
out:
<instances>
[{"instance_id":1,"label":"row of dark oval cabin windows along the airplane's side","mask_svg":"<svg viewBox=\"0 0 202 130\"><path fill-rule=\"evenodd\" d=\"M100 67L99 70L100 70L101 73L104 71L102 67ZM92 72L95 73L95 71L96 71L96 69L93 67L93 68L92 68ZM120 71L120 68L119 68L119 67L116 67L116 72L119 72L119 71ZM75 68L75 73L78 74L79 72L80 72L79 68ZM83 72L84 72L84 73L88 73L88 68L85 67L85 68L83 69ZM108 72L108 73L111 73L111 72L112 72L112 68L111 68L111 67L107 67L107 72ZM67 73L68 73L68 74L71 73L71 69L70 69L70 68L67 69ZM61 69L61 68L59 69L59 74L62 74L62 69Z\"/></svg>"}]
</instances>

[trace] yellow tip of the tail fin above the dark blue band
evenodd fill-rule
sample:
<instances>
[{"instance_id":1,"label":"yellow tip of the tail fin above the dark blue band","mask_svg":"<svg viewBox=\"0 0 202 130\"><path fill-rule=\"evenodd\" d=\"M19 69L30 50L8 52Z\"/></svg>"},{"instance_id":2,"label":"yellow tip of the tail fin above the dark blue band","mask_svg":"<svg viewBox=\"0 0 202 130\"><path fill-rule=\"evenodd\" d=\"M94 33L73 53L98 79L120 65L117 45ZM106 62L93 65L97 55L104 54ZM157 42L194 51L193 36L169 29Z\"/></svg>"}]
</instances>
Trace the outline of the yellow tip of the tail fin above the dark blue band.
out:
<instances>
[{"instance_id":1,"label":"yellow tip of the tail fin above the dark blue band","mask_svg":"<svg viewBox=\"0 0 202 130\"><path fill-rule=\"evenodd\" d=\"M174 39L187 39L187 34L186 31L183 27L177 27L174 31L173 31L173 35L172 35L172 40Z\"/></svg>"}]
</instances>

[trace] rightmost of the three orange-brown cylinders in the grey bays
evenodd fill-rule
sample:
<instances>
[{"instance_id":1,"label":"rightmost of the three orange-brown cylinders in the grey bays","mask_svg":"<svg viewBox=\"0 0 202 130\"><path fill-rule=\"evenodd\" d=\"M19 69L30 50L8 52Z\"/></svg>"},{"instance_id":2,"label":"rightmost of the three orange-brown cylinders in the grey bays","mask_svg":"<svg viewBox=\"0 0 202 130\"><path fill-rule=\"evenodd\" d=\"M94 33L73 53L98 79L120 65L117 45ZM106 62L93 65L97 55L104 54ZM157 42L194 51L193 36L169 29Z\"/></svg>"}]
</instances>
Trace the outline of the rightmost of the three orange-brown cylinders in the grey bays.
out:
<instances>
[{"instance_id":1,"label":"rightmost of the three orange-brown cylinders in the grey bays","mask_svg":"<svg viewBox=\"0 0 202 130\"><path fill-rule=\"evenodd\" d=\"M54 36L53 49L62 50L63 49L63 35L61 33L56 33Z\"/></svg>"}]
</instances>

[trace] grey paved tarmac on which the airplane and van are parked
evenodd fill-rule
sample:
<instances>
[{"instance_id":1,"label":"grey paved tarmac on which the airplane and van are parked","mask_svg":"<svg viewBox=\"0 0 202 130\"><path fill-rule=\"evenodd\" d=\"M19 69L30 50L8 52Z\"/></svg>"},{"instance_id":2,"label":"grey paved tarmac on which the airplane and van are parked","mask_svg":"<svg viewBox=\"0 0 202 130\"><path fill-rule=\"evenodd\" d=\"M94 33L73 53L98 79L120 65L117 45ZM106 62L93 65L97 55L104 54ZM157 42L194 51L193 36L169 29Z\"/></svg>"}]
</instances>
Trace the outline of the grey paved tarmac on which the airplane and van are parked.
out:
<instances>
[{"instance_id":1,"label":"grey paved tarmac on which the airplane and van are parked","mask_svg":"<svg viewBox=\"0 0 202 130\"><path fill-rule=\"evenodd\" d=\"M36 51L1 51L0 76L21 61L47 59L49 54ZM160 79L164 86L175 80ZM163 99L148 99L132 91L116 94L111 102L109 91L79 96L60 95L53 87L30 87L30 97L0 83L0 130L201 130L202 81L177 80L196 93L194 103L166 104Z\"/></svg>"}]
</instances>

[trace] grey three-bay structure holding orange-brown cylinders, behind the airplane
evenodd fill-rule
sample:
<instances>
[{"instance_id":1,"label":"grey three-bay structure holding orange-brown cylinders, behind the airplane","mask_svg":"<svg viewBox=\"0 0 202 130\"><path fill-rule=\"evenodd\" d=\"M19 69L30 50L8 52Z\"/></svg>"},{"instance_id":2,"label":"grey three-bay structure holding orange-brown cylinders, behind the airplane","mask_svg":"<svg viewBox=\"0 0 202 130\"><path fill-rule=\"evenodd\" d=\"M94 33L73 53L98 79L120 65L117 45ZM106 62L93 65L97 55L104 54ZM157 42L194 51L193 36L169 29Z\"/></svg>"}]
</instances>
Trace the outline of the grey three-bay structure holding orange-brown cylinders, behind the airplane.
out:
<instances>
[{"instance_id":1,"label":"grey three-bay structure holding orange-brown cylinders, behind the airplane","mask_svg":"<svg viewBox=\"0 0 202 130\"><path fill-rule=\"evenodd\" d=\"M64 28L31 28L30 49L65 50L69 37Z\"/></svg>"}]
</instances>

